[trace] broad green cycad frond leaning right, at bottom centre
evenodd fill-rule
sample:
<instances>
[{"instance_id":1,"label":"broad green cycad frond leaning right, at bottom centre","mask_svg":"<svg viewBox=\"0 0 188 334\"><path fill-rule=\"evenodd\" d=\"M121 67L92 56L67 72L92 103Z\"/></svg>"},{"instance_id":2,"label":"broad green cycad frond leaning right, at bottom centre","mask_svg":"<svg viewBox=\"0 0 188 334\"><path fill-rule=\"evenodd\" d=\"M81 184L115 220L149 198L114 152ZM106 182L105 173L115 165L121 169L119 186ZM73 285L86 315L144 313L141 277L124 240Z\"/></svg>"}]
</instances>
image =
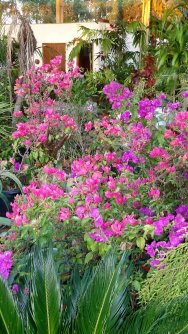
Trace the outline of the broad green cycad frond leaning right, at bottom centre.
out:
<instances>
[{"instance_id":1,"label":"broad green cycad frond leaning right, at bottom centre","mask_svg":"<svg viewBox=\"0 0 188 334\"><path fill-rule=\"evenodd\" d=\"M128 259L125 253L121 261L116 263L116 256L108 254L95 269L88 287L80 296L78 315L75 321L75 333L99 334L115 333L116 324L124 310L125 276L121 276L122 266ZM117 298L119 305L117 307ZM110 319L110 320L109 320Z\"/></svg>"}]
</instances>

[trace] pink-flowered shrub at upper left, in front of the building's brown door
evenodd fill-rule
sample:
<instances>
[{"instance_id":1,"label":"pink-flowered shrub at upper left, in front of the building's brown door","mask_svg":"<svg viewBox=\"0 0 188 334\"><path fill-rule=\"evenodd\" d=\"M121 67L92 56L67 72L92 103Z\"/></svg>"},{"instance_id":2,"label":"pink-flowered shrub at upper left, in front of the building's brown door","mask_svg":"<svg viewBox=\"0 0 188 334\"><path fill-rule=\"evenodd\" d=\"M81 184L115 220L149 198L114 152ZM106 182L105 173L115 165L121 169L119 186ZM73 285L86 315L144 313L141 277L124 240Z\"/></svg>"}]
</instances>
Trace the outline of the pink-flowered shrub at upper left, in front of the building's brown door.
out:
<instances>
[{"instance_id":1,"label":"pink-flowered shrub at upper left, in front of the building's brown door","mask_svg":"<svg viewBox=\"0 0 188 334\"><path fill-rule=\"evenodd\" d=\"M27 82L17 79L15 92L24 100L24 110L14 116L21 119L13 132L13 138L32 152L40 152L40 161L45 163L56 158L64 142L77 130L73 117L65 112L63 102L71 95L73 81L81 76L79 68L70 64L67 73L58 69L61 56L28 72ZM45 154L44 154L45 153ZM34 158L37 153L33 154ZM35 159L37 160L37 159Z\"/></svg>"}]
</instances>

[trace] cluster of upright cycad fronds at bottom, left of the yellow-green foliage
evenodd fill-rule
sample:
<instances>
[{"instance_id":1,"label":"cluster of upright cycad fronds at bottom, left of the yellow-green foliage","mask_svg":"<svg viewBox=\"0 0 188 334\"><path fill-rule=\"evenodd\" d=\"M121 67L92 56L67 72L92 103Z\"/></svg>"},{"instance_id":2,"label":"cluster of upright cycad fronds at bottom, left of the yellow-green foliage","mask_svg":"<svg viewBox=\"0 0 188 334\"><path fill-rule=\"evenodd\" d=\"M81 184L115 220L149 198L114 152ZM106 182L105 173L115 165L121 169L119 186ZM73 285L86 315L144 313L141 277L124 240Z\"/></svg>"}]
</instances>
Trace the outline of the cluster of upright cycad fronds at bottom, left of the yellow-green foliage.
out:
<instances>
[{"instance_id":1,"label":"cluster of upright cycad fronds at bottom, left of the yellow-green foliage","mask_svg":"<svg viewBox=\"0 0 188 334\"><path fill-rule=\"evenodd\" d=\"M15 298L0 276L1 333L119 332L130 309L128 263L128 253L120 261L108 254L82 279L75 270L61 291L51 249L37 248L31 257L28 296L20 292Z\"/></svg>"}]
</instances>

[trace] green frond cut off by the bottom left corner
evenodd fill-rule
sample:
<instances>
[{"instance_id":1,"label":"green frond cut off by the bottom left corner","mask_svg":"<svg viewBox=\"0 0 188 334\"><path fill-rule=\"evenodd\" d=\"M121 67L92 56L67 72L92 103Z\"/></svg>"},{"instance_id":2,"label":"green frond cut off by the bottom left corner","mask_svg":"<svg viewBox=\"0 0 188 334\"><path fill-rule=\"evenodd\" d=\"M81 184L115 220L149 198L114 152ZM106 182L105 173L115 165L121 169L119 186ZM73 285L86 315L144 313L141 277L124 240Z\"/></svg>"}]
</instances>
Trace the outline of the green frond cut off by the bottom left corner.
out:
<instances>
[{"instance_id":1,"label":"green frond cut off by the bottom left corner","mask_svg":"<svg viewBox=\"0 0 188 334\"><path fill-rule=\"evenodd\" d=\"M0 333L23 334L23 321L7 283L0 275Z\"/></svg>"}]
</instances>

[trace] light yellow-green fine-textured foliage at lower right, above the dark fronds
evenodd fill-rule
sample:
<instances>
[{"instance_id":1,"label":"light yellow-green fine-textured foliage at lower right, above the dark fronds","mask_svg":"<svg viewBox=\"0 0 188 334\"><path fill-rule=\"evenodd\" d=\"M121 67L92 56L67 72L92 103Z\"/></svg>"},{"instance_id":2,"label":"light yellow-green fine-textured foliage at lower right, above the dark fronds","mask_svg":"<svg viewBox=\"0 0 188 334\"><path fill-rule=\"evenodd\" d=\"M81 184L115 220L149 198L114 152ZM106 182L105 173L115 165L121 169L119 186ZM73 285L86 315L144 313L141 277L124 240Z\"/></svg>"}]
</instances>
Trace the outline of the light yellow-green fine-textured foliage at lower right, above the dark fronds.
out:
<instances>
[{"instance_id":1,"label":"light yellow-green fine-textured foliage at lower right, above the dark fronds","mask_svg":"<svg viewBox=\"0 0 188 334\"><path fill-rule=\"evenodd\" d=\"M188 244L182 244L166 254L163 269L155 269L143 281L139 294L142 304L164 304L188 294Z\"/></svg>"}]
</instances>

